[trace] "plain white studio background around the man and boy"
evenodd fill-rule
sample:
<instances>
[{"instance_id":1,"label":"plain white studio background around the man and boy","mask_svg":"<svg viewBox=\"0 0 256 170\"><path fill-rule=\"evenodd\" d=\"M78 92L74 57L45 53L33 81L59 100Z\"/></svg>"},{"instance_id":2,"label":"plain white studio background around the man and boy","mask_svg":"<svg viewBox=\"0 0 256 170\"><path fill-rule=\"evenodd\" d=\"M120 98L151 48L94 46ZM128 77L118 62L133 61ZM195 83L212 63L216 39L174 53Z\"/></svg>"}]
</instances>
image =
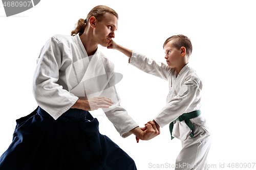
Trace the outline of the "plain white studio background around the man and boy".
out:
<instances>
[{"instance_id":1,"label":"plain white studio background around the man and boy","mask_svg":"<svg viewBox=\"0 0 256 170\"><path fill-rule=\"evenodd\" d=\"M166 38L188 36L193 44L190 66L204 83L202 114L212 130L208 163L212 169L223 169L220 164L229 169L228 163L256 162L254 1L41 0L11 17L5 16L0 5L0 155L12 141L15 120L37 107L32 78L40 48L54 34L69 35L76 21L97 5L119 14L117 43L158 61L165 62L162 44ZM99 48L123 75L117 84L121 105L143 126L165 105L167 82L129 65L120 52ZM134 135L121 138L102 110L92 114L99 119L100 132L129 154L138 169L175 164L181 144L170 140L167 126L156 138L136 143Z\"/></svg>"}]
</instances>

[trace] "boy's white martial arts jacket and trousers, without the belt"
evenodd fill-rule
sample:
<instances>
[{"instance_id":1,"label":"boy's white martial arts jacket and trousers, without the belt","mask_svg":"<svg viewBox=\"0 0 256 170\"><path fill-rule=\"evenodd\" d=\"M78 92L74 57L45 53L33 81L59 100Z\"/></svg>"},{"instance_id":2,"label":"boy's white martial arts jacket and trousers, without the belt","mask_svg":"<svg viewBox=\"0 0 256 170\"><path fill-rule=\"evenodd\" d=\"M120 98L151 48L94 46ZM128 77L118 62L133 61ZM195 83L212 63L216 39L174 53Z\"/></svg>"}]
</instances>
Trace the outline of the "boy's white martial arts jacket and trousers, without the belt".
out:
<instances>
[{"instance_id":1,"label":"boy's white martial arts jacket and trousers, without the belt","mask_svg":"<svg viewBox=\"0 0 256 170\"><path fill-rule=\"evenodd\" d=\"M174 68L134 51L130 64L169 83L166 106L154 118L161 128L183 113L200 110L202 81L188 64L181 69L177 77ZM175 169L207 169L205 165L211 143L208 125L202 114L190 121L194 127L193 138L189 136L191 130L184 121L176 120L174 123L173 136L182 142Z\"/></svg>"}]
</instances>

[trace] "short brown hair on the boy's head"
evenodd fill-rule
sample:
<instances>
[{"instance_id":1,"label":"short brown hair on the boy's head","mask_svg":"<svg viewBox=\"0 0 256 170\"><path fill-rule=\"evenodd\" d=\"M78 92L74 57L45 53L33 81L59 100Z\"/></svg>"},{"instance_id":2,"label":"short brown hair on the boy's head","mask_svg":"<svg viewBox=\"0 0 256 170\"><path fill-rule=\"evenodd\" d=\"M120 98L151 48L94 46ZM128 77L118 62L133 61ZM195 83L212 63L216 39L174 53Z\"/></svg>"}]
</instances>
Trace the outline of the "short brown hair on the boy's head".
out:
<instances>
[{"instance_id":1,"label":"short brown hair on the boy's head","mask_svg":"<svg viewBox=\"0 0 256 170\"><path fill-rule=\"evenodd\" d=\"M184 46L186 48L187 54L188 56L191 55L193 47L191 44L191 41L189 38L187 38L187 36L185 35L174 35L172 37L169 37L165 40L165 42L163 43L163 48L164 46L167 44L167 42L173 40L173 44L174 46L179 50L182 46Z\"/></svg>"}]
</instances>

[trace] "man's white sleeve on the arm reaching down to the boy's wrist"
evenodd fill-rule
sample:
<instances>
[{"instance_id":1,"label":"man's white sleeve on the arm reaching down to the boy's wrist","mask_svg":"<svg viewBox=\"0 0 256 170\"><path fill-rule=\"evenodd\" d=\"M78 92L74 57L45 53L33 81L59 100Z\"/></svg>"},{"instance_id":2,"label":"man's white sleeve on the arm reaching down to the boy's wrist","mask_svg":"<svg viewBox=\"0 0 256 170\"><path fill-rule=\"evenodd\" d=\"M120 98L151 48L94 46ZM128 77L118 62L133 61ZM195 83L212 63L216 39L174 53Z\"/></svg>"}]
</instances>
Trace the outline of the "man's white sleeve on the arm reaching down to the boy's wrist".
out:
<instances>
[{"instance_id":1,"label":"man's white sleeve on the arm reaching down to the boy's wrist","mask_svg":"<svg viewBox=\"0 0 256 170\"><path fill-rule=\"evenodd\" d=\"M106 117L108 117L110 122L114 125L120 136L125 138L132 134L131 132L129 132L130 130L138 127L139 125L120 105L121 99L113 81L115 81L114 76L112 76L112 78L109 80L109 88L104 89L101 93L101 96L110 98L114 102L114 104L111 107L103 108L102 110L105 112Z\"/></svg>"}]
</instances>

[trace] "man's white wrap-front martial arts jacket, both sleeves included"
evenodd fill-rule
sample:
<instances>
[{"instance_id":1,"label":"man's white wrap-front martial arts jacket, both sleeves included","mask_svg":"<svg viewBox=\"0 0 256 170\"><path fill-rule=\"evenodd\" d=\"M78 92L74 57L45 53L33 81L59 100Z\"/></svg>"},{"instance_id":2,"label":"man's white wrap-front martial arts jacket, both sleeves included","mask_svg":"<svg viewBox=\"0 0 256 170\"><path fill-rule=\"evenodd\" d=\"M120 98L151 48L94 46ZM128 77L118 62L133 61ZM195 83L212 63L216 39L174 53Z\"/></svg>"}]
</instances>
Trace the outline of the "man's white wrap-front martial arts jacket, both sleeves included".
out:
<instances>
[{"instance_id":1,"label":"man's white wrap-front martial arts jacket, both sleeves included","mask_svg":"<svg viewBox=\"0 0 256 170\"><path fill-rule=\"evenodd\" d=\"M113 81L114 64L101 52L97 50L88 57L78 34L55 35L42 47L37 59L33 93L38 105L54 119L69 110L78 98L110 98L114 104L103 111L118 133L127 137L138 125L120 106Z\"/></svg>"}]
</instances>

